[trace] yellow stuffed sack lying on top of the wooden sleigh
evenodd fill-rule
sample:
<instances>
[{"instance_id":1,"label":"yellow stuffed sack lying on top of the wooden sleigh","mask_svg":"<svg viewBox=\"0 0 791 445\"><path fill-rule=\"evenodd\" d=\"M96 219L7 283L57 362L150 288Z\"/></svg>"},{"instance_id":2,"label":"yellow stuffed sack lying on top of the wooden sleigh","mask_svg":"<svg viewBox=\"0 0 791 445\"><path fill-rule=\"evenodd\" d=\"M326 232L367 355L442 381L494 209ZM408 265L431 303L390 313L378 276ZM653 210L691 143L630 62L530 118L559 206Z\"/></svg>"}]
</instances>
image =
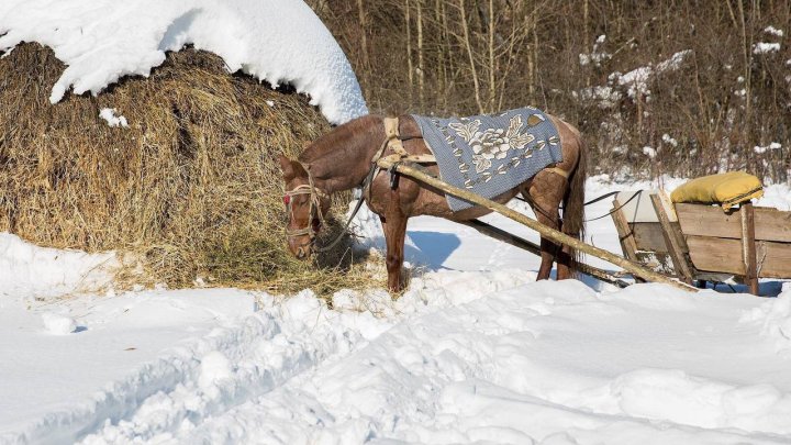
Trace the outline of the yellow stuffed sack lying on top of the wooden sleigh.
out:
<instances>
[{"instance_id":1,"label":"yellow stuffed sack lying on top of the wooden sleigh","mask_svg":"<svg viewBox=\"0 0 791 445\"><path fill-rule=\"evenodd\" d=\"M745 171L692 179L670 193L672 202L704 202L721 204L728 210L739 202L764 196L760 179Z\"/></svg>"}]
</instances>

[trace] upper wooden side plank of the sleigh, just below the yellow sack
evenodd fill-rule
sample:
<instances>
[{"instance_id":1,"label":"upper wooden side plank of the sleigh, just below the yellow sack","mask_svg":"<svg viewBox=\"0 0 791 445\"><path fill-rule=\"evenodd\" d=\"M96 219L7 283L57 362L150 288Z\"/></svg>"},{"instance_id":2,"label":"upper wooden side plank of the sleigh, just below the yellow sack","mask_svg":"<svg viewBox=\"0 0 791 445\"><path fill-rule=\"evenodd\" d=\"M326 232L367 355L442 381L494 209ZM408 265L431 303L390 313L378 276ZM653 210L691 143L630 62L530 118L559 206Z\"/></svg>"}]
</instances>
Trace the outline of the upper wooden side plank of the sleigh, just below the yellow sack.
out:
<instances>
[{"instance_id":1,"label":"upper wooden side plank of the sleigh, just below the yellow sack","mask_svg":"<svg viewBox=\"0 0 791 445\"><path fill-rule=\"evenodd\" d=\"M718 207L676 204L676 213L684 235L742 238L742 215L738 210L725 213ZM757 241L791 243L791 212L755 208Z\"/></svg>"}]
</instances>

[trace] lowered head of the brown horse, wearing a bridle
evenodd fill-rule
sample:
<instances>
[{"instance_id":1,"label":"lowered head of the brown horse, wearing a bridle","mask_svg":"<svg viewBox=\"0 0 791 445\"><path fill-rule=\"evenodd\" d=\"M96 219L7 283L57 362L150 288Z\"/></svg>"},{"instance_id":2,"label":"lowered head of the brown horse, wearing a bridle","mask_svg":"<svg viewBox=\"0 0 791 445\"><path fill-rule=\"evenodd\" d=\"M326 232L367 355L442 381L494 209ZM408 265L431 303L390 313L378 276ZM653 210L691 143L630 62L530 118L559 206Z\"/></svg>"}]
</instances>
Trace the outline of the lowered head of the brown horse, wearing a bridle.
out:
<instances>
[{"instance_id":1,"label":"lowered head of the brown horse, wearing a bridle","mask_svg":"<svg viewBox=\"0 0 791 445\"><path fill-rule=\"evenodd\" d=\"M315 251L315 237L330 208L330 196L315 187L310 166L280 156L286 205L286 236L289 251L299 259L308 259Z\"/></svg>"}]
</instances>

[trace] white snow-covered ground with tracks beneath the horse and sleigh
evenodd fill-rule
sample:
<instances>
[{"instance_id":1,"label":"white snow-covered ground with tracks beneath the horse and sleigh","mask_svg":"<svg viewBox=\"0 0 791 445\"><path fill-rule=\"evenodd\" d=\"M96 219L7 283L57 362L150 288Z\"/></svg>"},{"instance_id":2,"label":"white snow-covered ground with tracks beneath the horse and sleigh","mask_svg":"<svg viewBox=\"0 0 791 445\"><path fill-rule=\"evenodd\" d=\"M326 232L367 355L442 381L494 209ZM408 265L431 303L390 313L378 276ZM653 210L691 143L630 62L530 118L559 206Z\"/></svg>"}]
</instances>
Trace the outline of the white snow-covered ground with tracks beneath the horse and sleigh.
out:
<instances>
[{"instance_id":1,"label":"white snow-covered ground with tracks beneath the horse and sleigh","mask_svg":"<svg viewBox=\"0 0 791 445\"><path fill-rule=\"evenodd\" d=\"M588 193L614 188L593 178ZM762 203L790 194L772 186ZM358 222L380 245L376 219ZM620 249L609 218L589 240ZM107 285L114 259L0 242L0 443L791 442L781 282L764 283L771 299L534 282L536 257L417 218L408 257L422 271L394 302L381 289L338 292L332 310L309 290L64 297Z\"/></svg>"}]
</instances>

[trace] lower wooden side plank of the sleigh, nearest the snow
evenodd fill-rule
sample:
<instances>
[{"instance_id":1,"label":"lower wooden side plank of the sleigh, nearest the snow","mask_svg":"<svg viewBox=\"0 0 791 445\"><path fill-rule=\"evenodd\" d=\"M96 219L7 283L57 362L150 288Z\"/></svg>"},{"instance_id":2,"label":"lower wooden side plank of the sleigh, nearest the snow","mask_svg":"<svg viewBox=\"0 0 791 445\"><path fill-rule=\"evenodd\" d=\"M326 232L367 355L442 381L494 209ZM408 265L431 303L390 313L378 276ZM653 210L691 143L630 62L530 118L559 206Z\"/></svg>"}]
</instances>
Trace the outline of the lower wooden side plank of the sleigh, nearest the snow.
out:
<instances>
[{"instance_id":1,"label":"lower wooden side plank of the sleigh, nearest the snow","mask_svg":"<svg viewBox=\"0 0 791 445\"><path fill-rule=\"evenodd\" d=\"M687 236L692 265L705 271L745 275L742 241ZM758 277L791 278L791 243L756 242Z\"/></svg>"}]
</instances>

